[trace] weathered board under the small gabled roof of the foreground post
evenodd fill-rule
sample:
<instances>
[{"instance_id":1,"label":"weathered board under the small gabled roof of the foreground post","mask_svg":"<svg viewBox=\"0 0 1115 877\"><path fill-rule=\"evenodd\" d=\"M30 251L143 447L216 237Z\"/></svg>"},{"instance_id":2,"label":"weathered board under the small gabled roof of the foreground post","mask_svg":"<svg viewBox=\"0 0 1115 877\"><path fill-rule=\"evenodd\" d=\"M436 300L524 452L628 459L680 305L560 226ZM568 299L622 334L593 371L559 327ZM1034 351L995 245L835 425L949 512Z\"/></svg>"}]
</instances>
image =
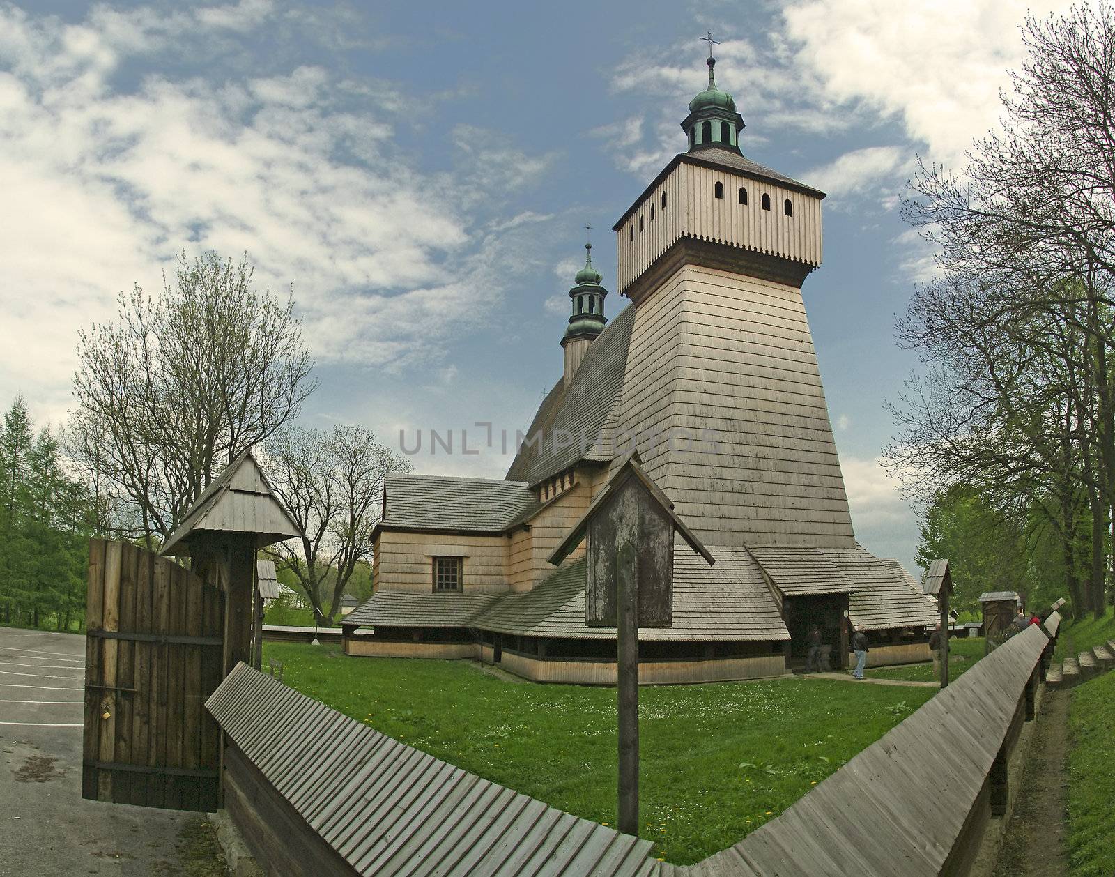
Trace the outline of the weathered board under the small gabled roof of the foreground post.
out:
<instances>
[{"instance_id":1,"label":"weathered board under the small gabled roof of the foreground post","mask_svg":"<svg viewBox=\"0 0 1115 877\"><path fill-rule=\"evenodd\" d=\"M629 478L588 523L584 623L615 627L623 548L634 546L639 627L673 624L673 519L637 478ZM628 549L630 550L630 549Z\"/></svg>"}]
</instances>

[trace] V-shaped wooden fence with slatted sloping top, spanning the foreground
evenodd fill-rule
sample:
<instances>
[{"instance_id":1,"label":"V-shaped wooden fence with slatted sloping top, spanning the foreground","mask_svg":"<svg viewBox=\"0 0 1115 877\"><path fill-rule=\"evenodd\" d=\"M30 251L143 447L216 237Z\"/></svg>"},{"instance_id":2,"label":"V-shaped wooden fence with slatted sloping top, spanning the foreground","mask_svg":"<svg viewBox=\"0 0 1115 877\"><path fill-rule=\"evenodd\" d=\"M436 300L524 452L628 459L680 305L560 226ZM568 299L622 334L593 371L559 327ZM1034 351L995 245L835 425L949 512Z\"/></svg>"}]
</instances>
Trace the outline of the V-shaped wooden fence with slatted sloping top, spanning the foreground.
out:
<instances>
[{"instance_id":1,"label":"V-shaped wooden fence with slatted sloping top, spanning the foreground","mask_svg":"<svg viewBox=\"0 0 1115 877\"><path fill-rule=\"evenodd\" d=\"M969 875L1009 809L1058 625L1012 637L777 819L685 867L245 664L207 707L231 744L229 811L274 874Z\"/></svg>"}]
</instances>

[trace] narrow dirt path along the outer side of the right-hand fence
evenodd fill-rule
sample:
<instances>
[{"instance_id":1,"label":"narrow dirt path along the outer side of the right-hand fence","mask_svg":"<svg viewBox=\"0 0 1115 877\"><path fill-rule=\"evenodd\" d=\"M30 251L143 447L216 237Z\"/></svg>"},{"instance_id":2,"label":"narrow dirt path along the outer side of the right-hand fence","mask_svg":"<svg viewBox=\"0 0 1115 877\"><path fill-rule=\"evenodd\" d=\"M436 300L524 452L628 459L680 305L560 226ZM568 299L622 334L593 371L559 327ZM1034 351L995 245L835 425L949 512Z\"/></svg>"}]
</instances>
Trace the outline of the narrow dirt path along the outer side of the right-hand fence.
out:
<instances>
[{"instance_id":1,"label":"narrow dirt path along the outer side of the right-hand fence","mask_svg":"<svg viewBox=\"0 0 1115 877\"><path fill-rule=\"evenodd\" d=\"M995 877L1064 877L1068 692L1046 690Z\"/></svg>"}]
</instances>

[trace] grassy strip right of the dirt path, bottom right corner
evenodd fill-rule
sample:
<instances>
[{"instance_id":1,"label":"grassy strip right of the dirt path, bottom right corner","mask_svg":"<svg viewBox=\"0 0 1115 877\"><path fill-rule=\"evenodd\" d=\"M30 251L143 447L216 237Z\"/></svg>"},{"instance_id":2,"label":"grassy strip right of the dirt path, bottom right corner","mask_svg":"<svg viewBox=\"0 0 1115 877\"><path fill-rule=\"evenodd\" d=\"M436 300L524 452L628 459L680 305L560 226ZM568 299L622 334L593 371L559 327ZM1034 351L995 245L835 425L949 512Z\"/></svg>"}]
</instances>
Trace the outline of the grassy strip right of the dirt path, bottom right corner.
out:
<instances>
[{"instance_id":1,"label":"grassy strip right of the dirt path, bottom right corner","mask_svg":"<svg viewBox=\"0 0 1115 877\"><path fill-rule=\"evenodd\" d=\"M1068 860L1078 877L1115 874L1115 673L1070 693Z\"/></svg>"}]
</instances>

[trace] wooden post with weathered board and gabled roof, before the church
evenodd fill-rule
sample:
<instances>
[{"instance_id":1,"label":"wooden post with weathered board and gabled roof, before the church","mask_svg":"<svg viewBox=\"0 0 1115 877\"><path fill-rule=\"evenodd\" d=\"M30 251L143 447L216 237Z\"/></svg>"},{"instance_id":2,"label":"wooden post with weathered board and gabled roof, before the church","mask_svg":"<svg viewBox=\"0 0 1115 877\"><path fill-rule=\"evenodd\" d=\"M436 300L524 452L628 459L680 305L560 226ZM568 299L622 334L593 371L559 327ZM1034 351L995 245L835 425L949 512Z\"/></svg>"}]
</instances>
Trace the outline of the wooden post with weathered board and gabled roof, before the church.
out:
<instances>
[{"instance_id":1,"label":"wooden post with weathered board and gabled roof, before the church","mask_svg":"<svg viewBox=\"0 0 1115 877\"><path fill-rule=\"evenodd\" d=\"M673 534L712 556L630 454L549 560L588 537L584 621L615 628L620 831L639 833L639 628L673 624Z\"/></svg>"}]
</instances>

